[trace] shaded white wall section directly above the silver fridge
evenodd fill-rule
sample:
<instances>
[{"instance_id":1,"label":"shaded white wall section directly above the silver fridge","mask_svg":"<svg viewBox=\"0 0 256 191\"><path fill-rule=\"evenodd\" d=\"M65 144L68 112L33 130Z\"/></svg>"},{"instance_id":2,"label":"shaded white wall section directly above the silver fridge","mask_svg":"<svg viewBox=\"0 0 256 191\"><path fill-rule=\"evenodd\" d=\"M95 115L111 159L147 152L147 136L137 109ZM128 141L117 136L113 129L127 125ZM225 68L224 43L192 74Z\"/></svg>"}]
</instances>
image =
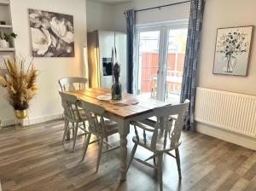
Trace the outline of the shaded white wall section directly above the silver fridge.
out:
<instances>
[{"instance_id":1,"label":"shaded white wall section directly above the silver fridge","mask_svg":"<svg viewBox=\"0 0 256 191\"><path fill-rule=\"evenodd\" d=\"M86 1L87 32L113 30L113 5Z\"/></svg>"}]
</instances>

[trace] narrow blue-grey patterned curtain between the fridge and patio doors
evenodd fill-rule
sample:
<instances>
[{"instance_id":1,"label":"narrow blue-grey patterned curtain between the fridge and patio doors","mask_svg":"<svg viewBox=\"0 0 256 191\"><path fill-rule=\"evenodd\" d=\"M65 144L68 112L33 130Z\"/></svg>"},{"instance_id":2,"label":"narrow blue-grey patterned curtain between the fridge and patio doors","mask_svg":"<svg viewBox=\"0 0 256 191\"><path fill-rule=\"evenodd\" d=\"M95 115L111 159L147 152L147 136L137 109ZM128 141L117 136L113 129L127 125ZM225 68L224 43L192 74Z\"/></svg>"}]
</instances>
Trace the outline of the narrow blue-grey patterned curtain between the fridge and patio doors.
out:
<instances>
[{"instance_id":1,"label":"narrow blue-grey patterned curtain between the fridge and patio doors","mask_svg":"<svg viewBox=\"0 0 256 191\"><path fill-rule=\"evenodd\" d=\"M136 13L134 9L125 11L126 32L127 32L127 92L133 93L133 67L134 67L134 41Z\"/></svg>"}]
</instances>

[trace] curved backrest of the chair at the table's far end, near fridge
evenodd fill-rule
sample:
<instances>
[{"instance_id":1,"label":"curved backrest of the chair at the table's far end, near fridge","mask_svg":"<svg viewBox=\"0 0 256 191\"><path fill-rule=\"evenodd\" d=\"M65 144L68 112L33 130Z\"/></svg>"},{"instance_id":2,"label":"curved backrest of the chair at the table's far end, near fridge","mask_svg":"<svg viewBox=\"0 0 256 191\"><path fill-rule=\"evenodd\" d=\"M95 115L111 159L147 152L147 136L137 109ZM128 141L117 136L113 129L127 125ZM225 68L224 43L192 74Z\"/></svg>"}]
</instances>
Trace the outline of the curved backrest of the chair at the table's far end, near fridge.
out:
<instances>
[{"instance_id":1,"label":"curved backrest of the chair at the table's far end, near fridge","mask_svg":"<svg viewBox=\"0 0 256 191\"><path fill-rule=\"evenodd\" d=\"M61 91L71 91L71 90L84 90L87 83L87 78L81 77L67 77L61 78L59 84L61 86Z\"/></svg>"}]
</instances>

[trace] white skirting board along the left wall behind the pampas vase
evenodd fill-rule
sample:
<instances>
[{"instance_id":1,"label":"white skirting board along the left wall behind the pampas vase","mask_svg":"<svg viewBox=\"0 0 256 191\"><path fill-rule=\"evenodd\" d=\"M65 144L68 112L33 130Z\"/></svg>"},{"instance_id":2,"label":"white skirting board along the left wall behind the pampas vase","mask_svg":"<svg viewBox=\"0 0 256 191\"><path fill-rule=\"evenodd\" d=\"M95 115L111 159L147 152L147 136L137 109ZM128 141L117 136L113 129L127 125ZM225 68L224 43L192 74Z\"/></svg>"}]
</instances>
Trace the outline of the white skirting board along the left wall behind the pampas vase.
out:
<instances>
[{"instance_id":1,"label":"white skirting board along the left wall behind the pampas vase","mask_svg":"<svg viewBox=\"0 0 256 191\"><path fill-rule=\"evenodd\" d=\"M49 121L49 120L53 120L53 119L61 119L62 118L63 113L55 113L55 114L51 114L51 115L44 115L41 117L37 117L37 118L29 118L29 119L25 119L24 120L24 125L27 124L40 124L43 123L45 121ZM2 127L4 126L9 126L15 124L15 119L2 119ZM1 127L0 127L1 128Z\"/></svg>"}]
</instances>

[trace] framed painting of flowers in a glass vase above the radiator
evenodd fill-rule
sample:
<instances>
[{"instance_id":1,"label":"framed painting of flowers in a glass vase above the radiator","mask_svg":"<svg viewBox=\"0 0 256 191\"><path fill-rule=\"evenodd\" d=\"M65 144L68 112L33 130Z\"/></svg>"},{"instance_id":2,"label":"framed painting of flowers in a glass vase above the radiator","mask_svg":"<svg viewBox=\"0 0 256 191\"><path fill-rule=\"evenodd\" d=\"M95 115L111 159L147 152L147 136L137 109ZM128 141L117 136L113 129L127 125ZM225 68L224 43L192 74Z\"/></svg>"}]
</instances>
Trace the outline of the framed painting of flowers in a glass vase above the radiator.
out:
<instances>
[{"instance_id":1,"label":"framed painting of flowers in a glass vase above the radiator","mask_svg":"<svg viewBox=\"0 0 256 191\"><path fill-rule=\"evenodd\" d=\"M247 75L252 32L253 26L218 29L213 73Z\"/></svg>"}]
</instances>

